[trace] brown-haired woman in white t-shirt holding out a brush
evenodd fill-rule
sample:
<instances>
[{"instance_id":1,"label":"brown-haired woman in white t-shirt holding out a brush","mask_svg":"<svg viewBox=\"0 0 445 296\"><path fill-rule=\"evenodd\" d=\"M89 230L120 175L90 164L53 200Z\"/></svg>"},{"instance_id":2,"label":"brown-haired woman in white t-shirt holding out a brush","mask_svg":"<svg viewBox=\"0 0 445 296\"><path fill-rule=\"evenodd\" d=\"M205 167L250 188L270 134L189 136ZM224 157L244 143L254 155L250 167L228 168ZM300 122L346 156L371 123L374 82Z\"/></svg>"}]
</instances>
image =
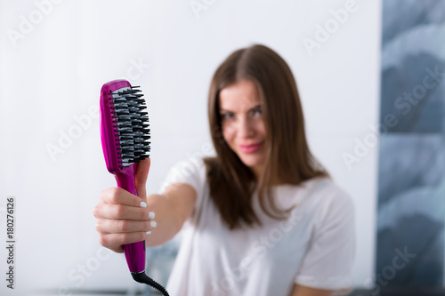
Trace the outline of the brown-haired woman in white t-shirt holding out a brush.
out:
<instances>
[{"instance_id":1,"label":"brown-haired woman in white t-shirt holding out a brush","mask_svg":"<svg viewBox=\"0 0 445 296\"><path fill-rule=\"evenodd\" d=\"M287 63L263 45L233 52L214 74L208 116L215 157L177 164L162 194L146 200L150 159L142 162L136 183L146 204L120 188L101 193L101 244L123 252L182 229L172 296L349 292L352 200L309 151Z\"/></svg>"}]
</instances>

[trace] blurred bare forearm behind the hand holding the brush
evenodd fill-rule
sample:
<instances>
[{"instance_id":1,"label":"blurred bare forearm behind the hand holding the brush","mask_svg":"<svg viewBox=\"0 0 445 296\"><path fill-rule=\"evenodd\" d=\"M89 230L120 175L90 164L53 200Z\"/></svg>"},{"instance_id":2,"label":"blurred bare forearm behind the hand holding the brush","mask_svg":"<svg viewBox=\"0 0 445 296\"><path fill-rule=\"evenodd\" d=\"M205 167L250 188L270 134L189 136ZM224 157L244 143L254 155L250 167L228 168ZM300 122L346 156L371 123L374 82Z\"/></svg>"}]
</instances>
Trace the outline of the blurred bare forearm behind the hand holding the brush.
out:
<instances>
[{"instance_id":1,"label":"blurred bare forearm behind the hand holding the brush","mask_svg":"<svg viewBox=\"0 0 445 296\"><path fill-rule=\"evenodd\" d=\"M172 239L182 228L182 220L175 212L173 200L167 196L150 195L147 196L147 204L150 211L155 212L157 226L151 230L145 244L156 246L165 244Z\"/></svg>"}]
</instances>

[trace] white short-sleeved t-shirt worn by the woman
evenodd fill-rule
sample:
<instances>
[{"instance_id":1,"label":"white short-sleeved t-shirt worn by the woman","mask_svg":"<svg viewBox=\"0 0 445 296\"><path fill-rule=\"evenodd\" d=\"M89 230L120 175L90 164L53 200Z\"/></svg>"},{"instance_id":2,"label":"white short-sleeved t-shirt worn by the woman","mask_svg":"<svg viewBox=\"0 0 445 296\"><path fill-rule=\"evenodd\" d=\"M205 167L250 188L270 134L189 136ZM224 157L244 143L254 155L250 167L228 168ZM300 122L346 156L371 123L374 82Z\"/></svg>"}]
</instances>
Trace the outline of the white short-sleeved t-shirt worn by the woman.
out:
<instances>
[{"instance_id":1,"label":"white short-sleeved t-shirt worn by the woman","mask_svg":"<svg viewBox=\"0 0 445 296\"><path fill-rule=\"evenodd\" d=\"M176 164L161 191L187 183L198 194L182 228L182 244L169 277L171 296L288 296L295 284L352 288L354 206L328 178L273 188L276 204L295 206L287 220L267 216L255 194L263 226L230 230L209 198L202 159Z\"/></svg>"}]
</instances>

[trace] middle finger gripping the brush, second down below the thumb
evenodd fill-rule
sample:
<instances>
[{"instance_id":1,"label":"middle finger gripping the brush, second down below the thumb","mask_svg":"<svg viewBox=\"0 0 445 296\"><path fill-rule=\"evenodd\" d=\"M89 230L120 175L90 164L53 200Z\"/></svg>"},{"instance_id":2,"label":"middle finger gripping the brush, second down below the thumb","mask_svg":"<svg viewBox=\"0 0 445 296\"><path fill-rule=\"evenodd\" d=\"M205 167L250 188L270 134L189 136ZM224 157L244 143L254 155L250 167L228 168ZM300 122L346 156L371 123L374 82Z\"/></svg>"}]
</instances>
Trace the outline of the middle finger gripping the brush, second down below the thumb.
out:
<instances>
[{"instance_id":1,"label":"middle finger gripping the brush, second down below the thumb","mask_svg":"<svg viewBox=\"0 0 445 296\"><path fill-rule=\"evenodd\" d=\"M147 208L125 204L101 204L96 217L114 220L149 220L152 218L151 215Z\"/></svg>"}]
</instances>

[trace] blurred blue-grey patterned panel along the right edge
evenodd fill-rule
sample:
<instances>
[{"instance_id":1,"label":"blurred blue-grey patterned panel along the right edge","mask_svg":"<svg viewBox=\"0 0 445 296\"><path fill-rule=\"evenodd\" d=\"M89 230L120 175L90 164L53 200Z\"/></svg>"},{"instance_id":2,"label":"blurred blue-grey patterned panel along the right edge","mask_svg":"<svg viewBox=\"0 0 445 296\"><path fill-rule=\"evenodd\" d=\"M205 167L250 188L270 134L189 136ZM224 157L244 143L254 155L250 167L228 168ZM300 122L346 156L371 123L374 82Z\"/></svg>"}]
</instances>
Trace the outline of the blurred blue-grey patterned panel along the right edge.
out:
<instances>
[{"instance_id":1,"label":"blurred blue-grey patterned panel along the right edge","mask_svg":"<svg viewBox=\"0 0 445 296\"><path fill-rule=\"evenodd\" d=\"M445 1L383 8L375 282L443 287Z\"/></svg>"}]
</instances>

